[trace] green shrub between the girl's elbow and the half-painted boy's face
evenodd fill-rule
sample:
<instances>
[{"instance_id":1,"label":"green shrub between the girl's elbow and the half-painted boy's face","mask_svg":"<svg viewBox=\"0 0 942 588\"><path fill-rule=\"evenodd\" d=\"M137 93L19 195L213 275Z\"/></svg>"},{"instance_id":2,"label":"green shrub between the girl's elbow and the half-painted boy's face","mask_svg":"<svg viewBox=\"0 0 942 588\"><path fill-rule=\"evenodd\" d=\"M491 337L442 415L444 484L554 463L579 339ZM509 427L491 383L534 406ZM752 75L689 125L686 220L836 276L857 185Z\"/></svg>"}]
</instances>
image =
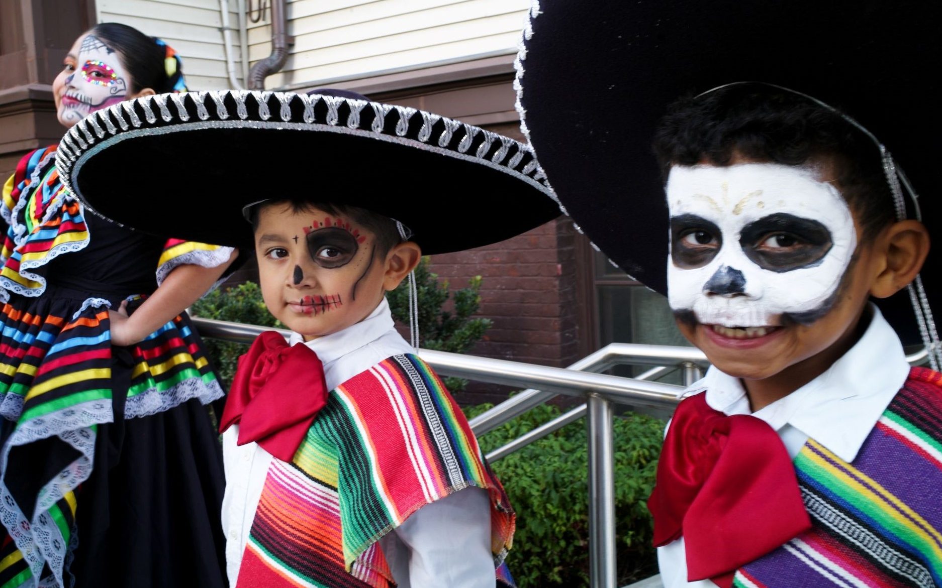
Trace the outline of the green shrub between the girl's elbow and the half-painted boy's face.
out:
<instances>
[{"instance_id":1,"label":"green shrub between the girl's elbow and the half-painted boy's face","mask_svg":"<svg viewBox=\"0 0 942 588\"><path fill-rule=\"evenodd\" d=\"M268 312L258 284L251 281L225 290L217 288L194 302L189 310L193 316L206 319L284 328L281 321ZM248 351L249 345L219 339L204 339L203 342L207 354L216 366L219 378L228 389L235 375L238 357Z\"/></svg>"}]
</instances>

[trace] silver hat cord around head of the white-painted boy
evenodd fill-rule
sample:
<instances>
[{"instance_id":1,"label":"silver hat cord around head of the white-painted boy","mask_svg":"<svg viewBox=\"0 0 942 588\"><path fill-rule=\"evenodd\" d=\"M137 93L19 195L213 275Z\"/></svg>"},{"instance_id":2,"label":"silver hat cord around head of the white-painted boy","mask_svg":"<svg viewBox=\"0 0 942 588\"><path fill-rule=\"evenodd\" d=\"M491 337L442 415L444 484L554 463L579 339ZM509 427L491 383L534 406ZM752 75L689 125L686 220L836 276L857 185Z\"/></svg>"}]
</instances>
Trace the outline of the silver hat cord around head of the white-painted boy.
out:
<instances>
[{"instance_id":1,"label":"silver hat cord around head of the white-painted boy","mask_svg":"<svg viewBox=\"0 0 942 588\"><path fill-rule=\"evenodd\" d=\"M816 103L819 106L826 108L827 110L830 110L831 112L840 116L842 119L847 120L864 135L869 136L870 140L872 140L874 145L876 145L880 150L880 157L883 161L886 183L889 185L890 191L893 194L893 206L896 209L896 219L898 221L906 219L906 199L902 195L902 191L905 188L906 194L909 195L909 199L913 203L913 211L915 213L916 220L919 222L922 221L922 212L919 210L919 197L916 193L916 190L913 189L913 185L909 183L909 180L906 178L906 174L902 172L902 169L897 167L896 162L893 161L893 156L890 155L889 151L886 150L885 145L881 143L879 139L877 139L876 135L870 133L864 125L836 109L831 104L821 102L814 96L808 96L807 94L793 90L790 87L777 86L775 84L768 84L766 82L733 82L731 84L723 84L723 86L708 89L706 92L699 94L697 97L699 98L700 96L704 96L723 87L740 86L744 84L775 87L780 90L802 96L804 99ZM917 275L916 279L906 286L906 290L909 292L909 300L913 306L913 312L916 314L916 321L919 326L919 335L922 336L922 343L926 346L926 356L929 358L929 366L934 371L938 372L939 366L942 365L942 344L939 343L939 335L938 331L935 329L933 310L929 306L929 298L926 296L926 289L922 285L922 276Z\"/></svg>"}]
</instances>

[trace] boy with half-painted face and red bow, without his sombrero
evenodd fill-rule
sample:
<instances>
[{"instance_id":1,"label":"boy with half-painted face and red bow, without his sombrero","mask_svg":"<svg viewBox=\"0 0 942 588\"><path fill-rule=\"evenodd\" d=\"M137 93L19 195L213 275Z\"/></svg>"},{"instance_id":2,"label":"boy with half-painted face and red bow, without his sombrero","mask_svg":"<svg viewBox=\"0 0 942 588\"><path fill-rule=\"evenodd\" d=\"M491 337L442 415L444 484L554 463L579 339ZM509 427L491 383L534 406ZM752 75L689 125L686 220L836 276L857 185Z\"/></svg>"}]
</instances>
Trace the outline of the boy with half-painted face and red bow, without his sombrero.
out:
<instances>
[{"instance_id":1,"label":"boy with half-painted face and red bow, without his sombrero","mask_svg":"<svg viewBox=\"0 0 942 588\"><path fill-rule=\"evenodd\" d=\"M315 92L365 100L339 90ZM276 566L268 560L272 549L284 562L311 558L313 562L306 565L313 569L302 574L322 582L315 585L384 588L390 580L414 588L484 588L494 586L495 581L498 586L512 585L502 564L513 530L510 503L447 390L398 334L384 296L420 260L421 249L408 240L409 230L387 216L331 201L266 200L246 207L244 214L254 232L262 297L272 315L293 333L290 346L281 335L265 333L239 359L220 419L229 481L222 523L228 537L226 560L232 585L274 585L270 582ZM268 381L259 386L262 378ZM310 389L280 398L273 393L298 381L310 382ZM394 381L400 384L390 388ZM330 398L331 390L344 400ZM391 405L376 402L377 395L389 393L402 397ZM422 403L450 406L446 413L431 411L412 423L408 417L397 421L389 412L393 405L409 411L406 405L414 400L418 404L412 409ZM342 462L363 448L332 439L336 444L328 453L339 452L341 463L333 474L335 480L326 477L331 480L326 488L330 491L334 486L340 502L337 522L344 533L343 549L304 545L305 539L293 539L295 545L284 548L283 542L271 539L271 529L286 520L306 519L311 539L326 532L324 527L333 526L324 523L333 509L312 509L311 504L279 498L284 487L297 484L298 470L292 467L298 468L304 460L322 460L318 449L323 451L319 446L325 438L355 421L350 421L348 407L340 407L344 403L361 412L363 421L353 426L369 430L365 435L371 437L368 442L375 447L376 459L388 462L376 475L386 478L383 498L398 501L394 510L400 514L355 521L354 517L370 517L366 508L349 519L344 516L349 508L343 506L344 501L380 497L375 490L358 494L347 487L361 485L363 480L349 475ZM261 412L268 416L259 417ZM435 433L429 427L432 422L443 431ZM301 440L299 434L309 440ZM435 471L431 466L415 477L406 474L409 469L416 471L415 463L403 461L404 455L391 458L389 454L400 454L407 437L414 438L411 443L439 446L443 457L465 446L461 459L466 473L416 501L415 486L428 484L428 479L445 470ZM316 470L306 469L306 473ZM324 492L322 480L310 486L312 491ZM361 545L349 546L349 529L372 536ZM330 560L335 564L328 564ZM349 566L349 573L343 564Z\"/></svg>"}]
</instances>

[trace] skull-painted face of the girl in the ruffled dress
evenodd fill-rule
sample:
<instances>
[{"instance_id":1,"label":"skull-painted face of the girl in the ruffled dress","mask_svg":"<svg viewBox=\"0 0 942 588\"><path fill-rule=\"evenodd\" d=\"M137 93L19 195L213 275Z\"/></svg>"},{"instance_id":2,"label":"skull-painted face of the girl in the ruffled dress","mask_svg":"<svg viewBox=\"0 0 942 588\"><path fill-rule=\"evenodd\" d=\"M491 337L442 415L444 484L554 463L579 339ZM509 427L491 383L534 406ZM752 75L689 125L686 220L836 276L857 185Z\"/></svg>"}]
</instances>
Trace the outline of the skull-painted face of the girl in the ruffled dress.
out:
<instances>
[{"instance_id":1,"label":"skull-painted face of the girl in the ruffled dress","mask_svg":"<svg viewBox=\"0 0 942 588\"><path fill-rule=\"evenodd\" d=\"M53 83L57 117L72 126L90 113L130 98L120 54L94 35L75 41Z\"/></svg>"}]
</instances>

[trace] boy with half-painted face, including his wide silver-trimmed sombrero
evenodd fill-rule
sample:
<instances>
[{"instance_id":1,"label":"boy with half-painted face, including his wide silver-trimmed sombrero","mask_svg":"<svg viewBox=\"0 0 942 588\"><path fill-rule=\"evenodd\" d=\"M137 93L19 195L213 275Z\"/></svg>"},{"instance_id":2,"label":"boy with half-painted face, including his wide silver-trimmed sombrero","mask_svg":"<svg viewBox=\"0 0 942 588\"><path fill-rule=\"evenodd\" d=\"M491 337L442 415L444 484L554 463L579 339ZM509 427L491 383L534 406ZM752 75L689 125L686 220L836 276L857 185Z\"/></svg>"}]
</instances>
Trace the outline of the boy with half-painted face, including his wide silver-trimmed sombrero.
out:
<instances>
[{"instance_id":1,"label":"boy with half-painted face, including his wide silver-trimmed sombrero","mask_svg":"<svg viewBox=\"0 0 942 588\"><path fill-rule=\"evenodd\" d=\"M294 331L256 339L220 418L231 583L512 585L512 508L384 294L423 253L558 215L528 148L327 90L156 96L76 126L58 164L89 210L254 248L266 306ZM131 167L155 152L190 172L186 194ZM110 199L103 169L147 175L167 214ZM445 196L465 210L444 214ZM485 215L509 200L521 214Z\"/></svg>"}]
</instances>

